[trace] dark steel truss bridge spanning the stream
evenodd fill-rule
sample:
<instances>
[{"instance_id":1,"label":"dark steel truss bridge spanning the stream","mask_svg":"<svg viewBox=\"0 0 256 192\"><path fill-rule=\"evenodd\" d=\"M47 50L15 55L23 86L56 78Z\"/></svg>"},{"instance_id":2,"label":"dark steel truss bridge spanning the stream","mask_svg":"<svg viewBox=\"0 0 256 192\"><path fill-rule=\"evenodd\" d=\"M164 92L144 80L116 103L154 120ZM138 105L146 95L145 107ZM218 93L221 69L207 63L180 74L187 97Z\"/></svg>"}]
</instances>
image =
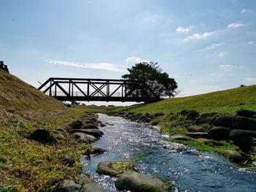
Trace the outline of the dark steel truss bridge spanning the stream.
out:
<instances>
[{"instance_id":1,"label":"dark steel truss bridge spanning the stream","mask_svg":"<svg viewBox=\"0 0 256 192\"><path fill-rule=\"evenodd\" d=\"M160 97L140 80L50 77L39 88L59 101L154 102Z\"/></svg>"}]
</instances>

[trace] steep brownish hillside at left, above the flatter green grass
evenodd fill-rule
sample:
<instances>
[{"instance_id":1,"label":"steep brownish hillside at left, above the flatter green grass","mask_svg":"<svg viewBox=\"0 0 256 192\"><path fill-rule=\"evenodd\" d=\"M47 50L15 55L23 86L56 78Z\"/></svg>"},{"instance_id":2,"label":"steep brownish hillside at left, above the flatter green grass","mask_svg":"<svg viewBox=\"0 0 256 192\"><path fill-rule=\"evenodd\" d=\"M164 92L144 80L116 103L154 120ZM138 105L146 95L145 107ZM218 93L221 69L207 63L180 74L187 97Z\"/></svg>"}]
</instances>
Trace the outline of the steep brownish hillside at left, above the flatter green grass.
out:
<instances>
[{"instance_id":1,"label":"steep brownish hillside at left, above the flatter green grass","mask_svg":"<svg viewBox=\"0 0 256 192\"><path fill-rule=\"evenodd\" d=\"M0 120L42 120L67 112L61 102L0 70Z\"/></svg>"}]
</instances>

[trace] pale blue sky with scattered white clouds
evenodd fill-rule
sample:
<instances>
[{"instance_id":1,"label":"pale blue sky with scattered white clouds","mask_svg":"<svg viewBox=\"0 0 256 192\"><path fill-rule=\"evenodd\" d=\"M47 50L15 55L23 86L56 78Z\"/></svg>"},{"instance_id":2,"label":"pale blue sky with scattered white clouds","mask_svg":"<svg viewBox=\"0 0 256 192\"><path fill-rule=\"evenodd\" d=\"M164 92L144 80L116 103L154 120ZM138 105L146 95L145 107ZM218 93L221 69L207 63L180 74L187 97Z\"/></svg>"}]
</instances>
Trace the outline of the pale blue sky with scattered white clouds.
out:
<instances>
[{"instance_id":1,"label":"pale blue sky with scattered white clouds","mask_svg":"<svg viewBox=\"0 0 256 192\"><path fill-rule=\"evenodd\" d=\"M0 60L49 77L121 79L159 64L179 96L256 84L254 0L0 0ZM38 82L39 81L39 82Z\"/></svg>"}]
</instances>

